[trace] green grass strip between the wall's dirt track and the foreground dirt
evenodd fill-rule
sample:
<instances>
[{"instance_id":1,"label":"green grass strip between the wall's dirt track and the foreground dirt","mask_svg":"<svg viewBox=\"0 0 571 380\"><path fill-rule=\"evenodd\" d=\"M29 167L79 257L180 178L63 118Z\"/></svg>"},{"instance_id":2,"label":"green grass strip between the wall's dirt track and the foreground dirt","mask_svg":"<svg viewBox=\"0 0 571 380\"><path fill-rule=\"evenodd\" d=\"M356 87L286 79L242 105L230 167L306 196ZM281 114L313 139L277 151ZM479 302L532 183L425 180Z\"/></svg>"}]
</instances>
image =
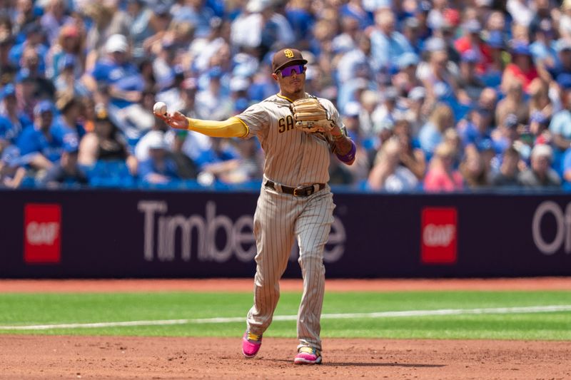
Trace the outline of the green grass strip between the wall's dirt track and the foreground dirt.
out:
<instances>
[{"instance_id":1,"label":"green grass strip between the wall's dirt track and the foreground dirt","mask_svg":"<svg viewBox=\"0 0 571 380\"><path fill-rule=\"evenodd\" d=\"M295 337L299 300L298 292L281 294L275 314L279 317L266 337ZM0 294L0 333L240 337L251 302L250 292L8 293ZM546 308L555 305L559 307ZM355 313L362 314L344 315ZM212 318L229 320L193 320ZM174 319L191 320L157 322L152 326L81 326ZM7 329L51 324L79 325ZM322 336L568 340L571 292L328 292L323 305Z\"/></svg>"}]
</instances>

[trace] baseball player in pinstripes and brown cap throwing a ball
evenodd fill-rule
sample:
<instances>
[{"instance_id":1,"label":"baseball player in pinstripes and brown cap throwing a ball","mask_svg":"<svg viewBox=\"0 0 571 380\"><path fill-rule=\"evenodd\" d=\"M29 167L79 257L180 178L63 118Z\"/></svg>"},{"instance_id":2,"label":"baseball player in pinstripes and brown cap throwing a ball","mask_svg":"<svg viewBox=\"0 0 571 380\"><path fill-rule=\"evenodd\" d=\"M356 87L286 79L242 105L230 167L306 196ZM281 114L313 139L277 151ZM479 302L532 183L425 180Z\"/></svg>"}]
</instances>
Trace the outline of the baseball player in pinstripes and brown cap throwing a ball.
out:
<instances>
[{"instance_id":1,"label":"baseball player in pinstripes and brown cap throwing a ball","mask_svg":"<svg viewBox=\"0 0 571 380\"><path fill-rule=\"evenodd\" d=\"M246 319L243 355L256 356L272 322L294 239L299 245L303 295L298 312L295 364L320 364L320 317L325 289L323 249L333 222L328 186L330 152L347 165L355 144L347 137L338 111L326 99L305 93L305 63L300 51L274 54L271 74L280 92L224 121L186 118L180 112L158 113L173 128L212 137L260 140L265 153L261 194L254 215L256 277L254 303Z\"/></svg>"}]
</instances>

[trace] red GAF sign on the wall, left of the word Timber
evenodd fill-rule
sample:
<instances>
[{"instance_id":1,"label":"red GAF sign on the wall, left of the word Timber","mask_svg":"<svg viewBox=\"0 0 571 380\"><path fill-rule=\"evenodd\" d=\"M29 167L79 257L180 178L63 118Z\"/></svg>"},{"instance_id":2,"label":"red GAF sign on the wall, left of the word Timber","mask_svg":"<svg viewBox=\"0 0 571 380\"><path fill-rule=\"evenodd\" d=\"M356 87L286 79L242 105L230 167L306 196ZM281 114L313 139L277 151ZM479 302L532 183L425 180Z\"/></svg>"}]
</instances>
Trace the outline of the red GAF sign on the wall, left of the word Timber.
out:
<instances>
[{"instance_id":1,"label":"red GAF sign on the wall, left of the word Timber","mask_svg":"<svg viewBox=\"0 0 571 380\"><path fill-rule=\"evenodd\" d=\"M26 205L24 207L24 261L44 263L60 260L60 205Z\"/></svg>"}]
</instances>

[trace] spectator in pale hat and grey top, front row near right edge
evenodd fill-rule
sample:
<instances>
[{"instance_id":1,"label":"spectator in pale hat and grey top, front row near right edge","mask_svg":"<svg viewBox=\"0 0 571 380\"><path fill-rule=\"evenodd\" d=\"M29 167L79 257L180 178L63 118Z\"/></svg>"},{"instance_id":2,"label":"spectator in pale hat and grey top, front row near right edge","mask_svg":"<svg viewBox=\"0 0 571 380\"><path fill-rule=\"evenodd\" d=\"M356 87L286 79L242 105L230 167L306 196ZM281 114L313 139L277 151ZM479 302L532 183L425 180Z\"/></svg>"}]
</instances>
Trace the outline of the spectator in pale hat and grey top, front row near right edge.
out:
<instances>
[{"instance_id":1,"label":"spectator in pale hat and grey top, front row near right edge","mask_svg":"<svg viewBox=\"0 0 571 380\"><path fill-rule=\"evenodd\" d=\"M559 188L561 178L551 168L553 161L552 148L549 145L535 145L531 152L531 165L518 180L526 188Z\"/></svg>"}]
</instances>

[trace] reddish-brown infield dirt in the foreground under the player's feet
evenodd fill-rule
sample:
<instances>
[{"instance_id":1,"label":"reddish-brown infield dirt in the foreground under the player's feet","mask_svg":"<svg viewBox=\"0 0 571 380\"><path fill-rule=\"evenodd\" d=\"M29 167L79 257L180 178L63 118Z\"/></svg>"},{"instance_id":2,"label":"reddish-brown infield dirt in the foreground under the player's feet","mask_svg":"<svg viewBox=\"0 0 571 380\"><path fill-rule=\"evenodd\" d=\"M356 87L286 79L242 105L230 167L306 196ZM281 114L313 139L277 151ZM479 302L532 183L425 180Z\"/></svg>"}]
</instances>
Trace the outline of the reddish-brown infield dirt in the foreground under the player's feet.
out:
<instances>
[{"instance_id":1,"label":"reddish-brown infield dirt in the foreground under the player's feet","mask_svg":"<svg viewBox=\"0 0 571 380\"><path fill-rule=\"evenodd\" d=\"M0 379L570 379L568 342L327 339L295 366L294 339L0 336Z\"/></svg>"}]
</instances>

